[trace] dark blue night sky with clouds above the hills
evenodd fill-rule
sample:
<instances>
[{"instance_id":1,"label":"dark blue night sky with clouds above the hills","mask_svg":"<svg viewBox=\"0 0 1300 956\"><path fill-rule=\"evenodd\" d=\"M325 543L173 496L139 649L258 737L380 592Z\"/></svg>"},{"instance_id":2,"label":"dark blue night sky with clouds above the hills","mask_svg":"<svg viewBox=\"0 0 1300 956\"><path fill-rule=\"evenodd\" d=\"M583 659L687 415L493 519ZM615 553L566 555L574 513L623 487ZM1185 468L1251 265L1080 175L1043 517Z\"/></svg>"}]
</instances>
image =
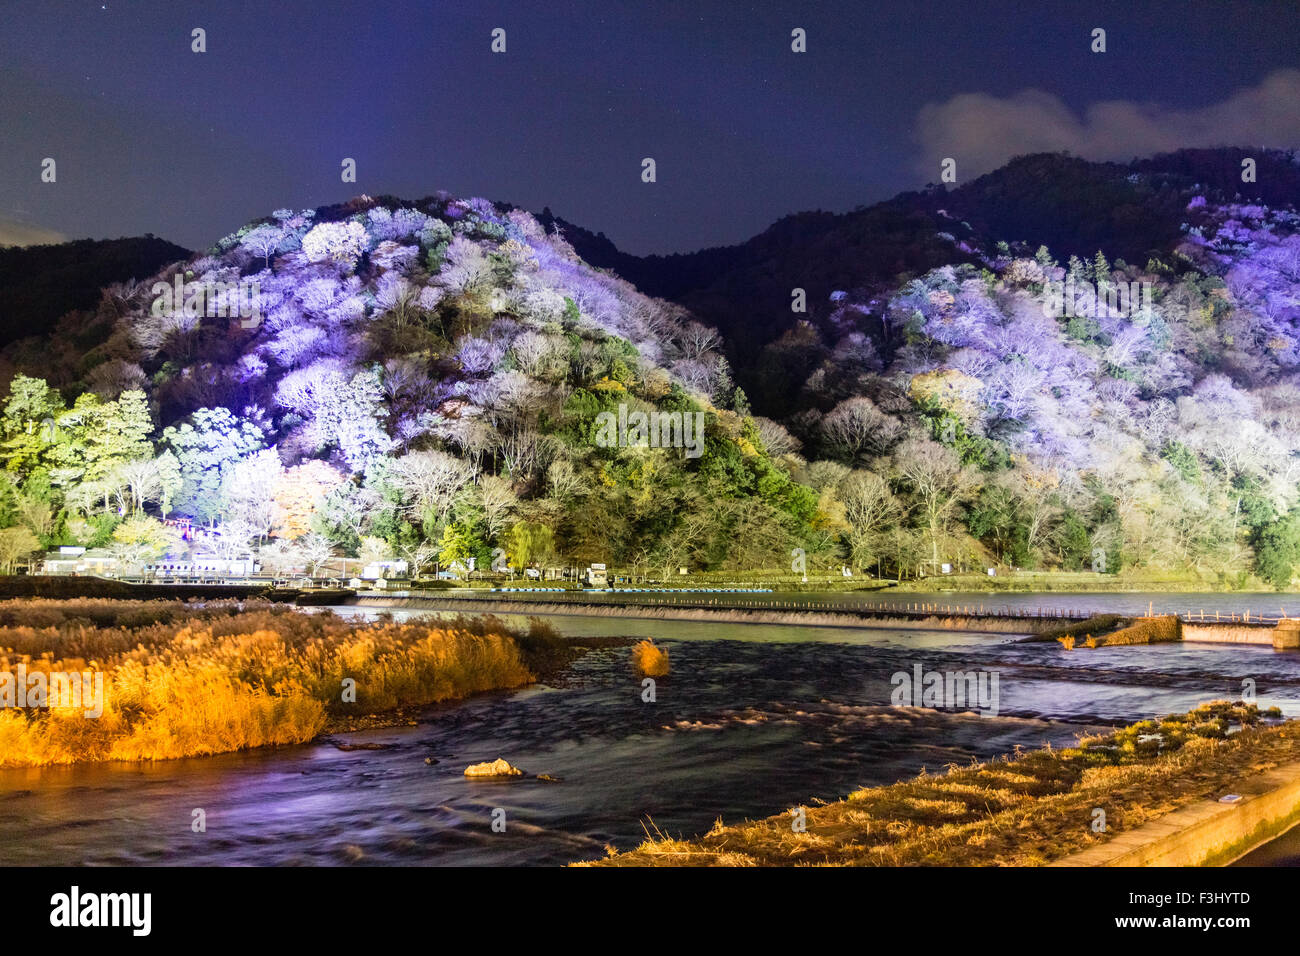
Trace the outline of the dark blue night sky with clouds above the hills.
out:
<instances>
[{"instance_id":1,"label":"dark blue night sky with clouds above the hills","mask_svg":"<svg viewBox=\"0 0 1300 956\"><path fill-rule=\"evenodd\" d=\"M1297 147L1297 68L1294 1L5 0L0 242L199 248L278 207L443 189L689 251L942 156L965 181L1043 148Z\"/></svg>"}]
</instances>

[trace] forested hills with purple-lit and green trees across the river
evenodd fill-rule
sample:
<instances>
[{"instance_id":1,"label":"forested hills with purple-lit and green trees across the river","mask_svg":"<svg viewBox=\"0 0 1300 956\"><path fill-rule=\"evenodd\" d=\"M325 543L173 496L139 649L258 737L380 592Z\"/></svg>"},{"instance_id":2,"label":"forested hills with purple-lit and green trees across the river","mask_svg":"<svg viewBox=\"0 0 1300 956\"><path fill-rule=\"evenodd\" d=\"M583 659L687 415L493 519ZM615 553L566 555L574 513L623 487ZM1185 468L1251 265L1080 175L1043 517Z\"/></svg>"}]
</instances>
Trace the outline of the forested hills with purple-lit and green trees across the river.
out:
<instances>
[{"instance_id":1,"label":"forested hills with purple-lit and green trees across the river","mask_svg":"<svg viewBox=\"0 0 1300 956\"><path fill-rule=\"evenodd\" d=\"M681 268L482 199L280 209L5 351L0 561L181 515L272 563L1288 587L1300 166L1240 159L1022 157Z\"/></svg>"}]
</instances>

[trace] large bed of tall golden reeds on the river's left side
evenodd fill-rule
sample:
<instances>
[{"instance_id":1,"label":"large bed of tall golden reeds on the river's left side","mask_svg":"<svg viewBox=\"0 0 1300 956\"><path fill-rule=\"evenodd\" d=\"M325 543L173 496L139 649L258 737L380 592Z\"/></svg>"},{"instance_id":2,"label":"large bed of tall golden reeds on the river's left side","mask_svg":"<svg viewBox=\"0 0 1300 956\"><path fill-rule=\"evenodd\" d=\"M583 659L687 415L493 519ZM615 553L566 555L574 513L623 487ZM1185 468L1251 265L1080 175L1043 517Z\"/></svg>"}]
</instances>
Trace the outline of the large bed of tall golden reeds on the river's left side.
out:
<instances>
[{"instance_id":1,"label":"large bed of tall golden reeds on the river's left side","mask_svg":"<svg viewBox=\"0 0 1300 956\"><path fill-rule=\"evenodd\" d=\"M0 710L0 766L302 743L332 719L533 680L519 643L529 636L491 618L359 623L270 605L116 602L131 606L112 623L112 609L94 607L105 622L96 627L66 613L74 609L22 604L38 605L32 617L46 627L0 627L0 669L103 671L104 713ZM0 606L0 620L8 610ZM344 700L344 679L355 701Z\"/></svg>"}]
</instances>

